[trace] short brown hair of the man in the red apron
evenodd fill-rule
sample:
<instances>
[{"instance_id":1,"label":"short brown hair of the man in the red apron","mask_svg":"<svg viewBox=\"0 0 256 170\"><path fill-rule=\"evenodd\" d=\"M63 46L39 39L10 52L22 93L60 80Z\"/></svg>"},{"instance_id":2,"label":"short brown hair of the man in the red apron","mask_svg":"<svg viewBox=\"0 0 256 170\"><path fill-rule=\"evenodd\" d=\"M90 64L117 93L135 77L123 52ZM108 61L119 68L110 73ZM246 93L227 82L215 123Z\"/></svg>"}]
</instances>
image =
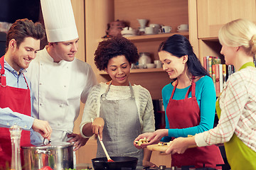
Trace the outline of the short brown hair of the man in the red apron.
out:
<instances>
[{"instance_id":1,"label":"short brown hair of the man in the red apron","mask_svg":"<svg viewBox=\"0 0 256 170\"><path fill-rule=\"evenodd\" d=\"M33 23L33 21L27 18L18 19L11 25L6 36L6 51L9 48L10 40L16 40L17 47L21 45L21 42L25 38L31 37L36 40L42 40L46 35L45 30L41 23Z\"/></svg>"}]
</instances>

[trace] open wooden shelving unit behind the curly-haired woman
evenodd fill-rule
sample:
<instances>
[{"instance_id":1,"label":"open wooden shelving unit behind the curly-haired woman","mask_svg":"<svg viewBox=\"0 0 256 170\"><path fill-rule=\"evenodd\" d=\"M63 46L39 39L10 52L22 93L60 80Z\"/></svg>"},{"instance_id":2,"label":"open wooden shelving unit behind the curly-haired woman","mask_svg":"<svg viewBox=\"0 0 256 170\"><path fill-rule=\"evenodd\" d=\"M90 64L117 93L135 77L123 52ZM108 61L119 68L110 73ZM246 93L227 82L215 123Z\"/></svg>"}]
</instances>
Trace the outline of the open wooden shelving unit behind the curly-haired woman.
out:
<instances>
[{"instance_id":1,"label":"open wooden shelving unit behind the curly-haired woman","mask_svg":"<svg viewBox=\"0 0 256 170\"><path fill-rule=\"evenodd\" d=\"M171 26L171 33L140 35L130 37L139 52L151 52L152 60L157 60L160 43L176 33L177 27L188 23L187 0L87 0L85 1L85 42L86 62L95 71L97 81L108 81L110 77L99 72L94 64L94 52L98 42L106 34L107 23L117 19L126 21L132 28L139 28L137 18L149 19L149 23ZM188 33L182 33L188 37ZM156 71L156 72L154 72ZM135 74L136 73L136 74ZM170 82L166 72L159 69L132 70L129 78L149 90L153 99L161 98L161 89ZM156 83L157 82L157 83Z\"/></svg>"}]
</instances>

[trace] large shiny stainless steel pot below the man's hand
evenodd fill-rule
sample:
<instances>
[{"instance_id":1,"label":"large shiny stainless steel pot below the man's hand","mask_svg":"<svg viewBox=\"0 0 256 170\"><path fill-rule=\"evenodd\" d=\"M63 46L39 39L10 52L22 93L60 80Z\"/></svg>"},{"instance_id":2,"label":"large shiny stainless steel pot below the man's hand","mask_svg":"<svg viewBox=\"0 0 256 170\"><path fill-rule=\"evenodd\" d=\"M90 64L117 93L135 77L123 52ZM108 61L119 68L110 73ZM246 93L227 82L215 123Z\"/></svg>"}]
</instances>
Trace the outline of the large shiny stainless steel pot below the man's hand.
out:
<instances>
[{"instance_id":1,"label":"large shiny stainless steel pot below the man's hand","mask_svg":"<svg viewBox=\"0 0 256 170\"><path fill-rule=\"evenodd\" d=\"M73 143L51 142L48 145L23 145L24 169L38 170L44 166L52 169L73 169Z\"/></svg>"}]
</instances>

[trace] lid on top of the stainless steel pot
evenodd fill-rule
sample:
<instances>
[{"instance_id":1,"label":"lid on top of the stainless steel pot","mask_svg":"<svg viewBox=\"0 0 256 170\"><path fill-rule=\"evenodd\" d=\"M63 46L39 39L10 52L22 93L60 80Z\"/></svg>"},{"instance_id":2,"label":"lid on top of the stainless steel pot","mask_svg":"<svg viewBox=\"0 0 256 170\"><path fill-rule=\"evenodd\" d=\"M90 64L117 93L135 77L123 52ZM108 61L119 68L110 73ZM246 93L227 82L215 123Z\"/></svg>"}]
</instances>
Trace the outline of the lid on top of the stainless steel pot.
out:
<instances>
[{"instance_id":1,"label":"lid on top of the stainless steel pot","mask_svg":"<svg viewBox=\"0 0 256 170\"><path fill-rule=\"evenodd\" d=\"M35 148L35 149L49 149L49 148L65 148L65 147L73 147L74 143L70 143L70 142L50 142L47 145L43 145L42 143L40 144L27 144L27 145L22 145L21 148Z\"/></svg>"}]
</instances>

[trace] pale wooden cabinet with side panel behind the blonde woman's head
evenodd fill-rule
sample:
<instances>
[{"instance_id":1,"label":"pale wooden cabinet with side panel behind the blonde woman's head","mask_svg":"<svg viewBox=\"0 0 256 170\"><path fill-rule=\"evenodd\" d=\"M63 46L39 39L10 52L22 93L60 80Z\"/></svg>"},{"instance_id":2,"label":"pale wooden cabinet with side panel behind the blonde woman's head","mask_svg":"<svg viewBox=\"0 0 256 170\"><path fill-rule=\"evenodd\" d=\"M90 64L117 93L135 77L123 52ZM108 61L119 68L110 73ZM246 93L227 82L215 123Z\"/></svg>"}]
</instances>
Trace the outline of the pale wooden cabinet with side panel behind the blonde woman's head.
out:
<instances>
[{"instance_id":1,"label":"pale wooden cabinet with side panel behind the blonde woman's head","mask_svg":"<svg viewBox=\"0 0 256 170\"><path fill-rule=\"evenodd\" d=\"M256 23L255 0L188 0L188 6L189 39L202 64L206 55L219 56L224 62L218 42L221 26L238 18Z\"/></svg>"}]
</instances>

